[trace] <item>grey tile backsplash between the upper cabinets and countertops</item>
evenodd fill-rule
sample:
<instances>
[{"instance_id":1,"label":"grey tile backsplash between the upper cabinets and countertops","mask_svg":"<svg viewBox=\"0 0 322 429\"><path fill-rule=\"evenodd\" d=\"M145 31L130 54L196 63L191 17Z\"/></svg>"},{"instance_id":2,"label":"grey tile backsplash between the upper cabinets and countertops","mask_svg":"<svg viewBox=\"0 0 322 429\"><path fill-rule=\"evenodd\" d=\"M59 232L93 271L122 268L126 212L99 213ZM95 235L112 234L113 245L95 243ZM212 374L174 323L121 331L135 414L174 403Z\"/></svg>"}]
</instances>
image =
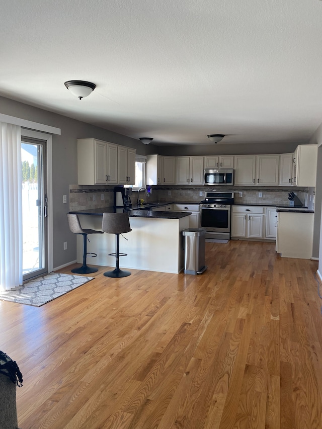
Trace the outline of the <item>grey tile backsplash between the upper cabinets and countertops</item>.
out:
<instances>
[{"instance_id":1,"label":"grey tile backsplash between the upper cabinets and countertops","mask_svg":"<svg viewBox=\"0 0 322 429\"><path fill-rule=\"evenodd\" d=\"M202 191L203 195L200 196ZM300 201L307 205L311 210L314 210L314 188L259 188L245 187L230 188L230 187L179 187L179 186L155 186L152 187L150 197L140 193L140 198L147 202L195 202L199 203L205 197L206 191L234 191L234 202L237 204L259 204L259 205L289 205L288 193L297 193ZM259 197L259 192L262 192L262 197ZM242 193L243 196L240 196ZM101 200L101 195L104 195L104 200ZM170 194L170 195L169 195ZM137 199L137 192L133 191L130 197L132 204ZM70 185L69 186L69 210L87 210L94 208L112 207L114 203L114 186L96 185Z\"/></svg>"}]
</instances>

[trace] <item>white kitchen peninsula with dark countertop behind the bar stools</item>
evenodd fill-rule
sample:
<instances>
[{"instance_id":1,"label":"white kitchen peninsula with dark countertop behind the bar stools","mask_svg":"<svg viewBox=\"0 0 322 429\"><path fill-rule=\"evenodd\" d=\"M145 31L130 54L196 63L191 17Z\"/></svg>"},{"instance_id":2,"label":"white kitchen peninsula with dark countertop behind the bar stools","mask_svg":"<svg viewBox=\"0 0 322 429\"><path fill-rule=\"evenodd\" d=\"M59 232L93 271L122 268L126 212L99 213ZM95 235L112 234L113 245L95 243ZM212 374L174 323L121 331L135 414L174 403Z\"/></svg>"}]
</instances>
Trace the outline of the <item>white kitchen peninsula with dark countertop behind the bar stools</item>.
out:
<instances>
[{"instance_id":1,"label":"white kitchen peninsula with dark countertop behind the bar stools","mask_svg":"<svg viewBox=\"0 0 322 429\"><path fill-rule=\"evenodd\" d=\"M70 211L79 217L83 228L102 230L104 212L114 212L113 207ZM121 211L123 211L121 209ZM124 269L157 271L178 274L184 268L184 248L181 232L189 228L189 212L164 212L152 210L129 210L132 231L120 235L120 258ZM126 238L126 239L125 239ZM77 236L77 263L83 262L82 236ZM87 245L88 252L97 253L97 258L88 263L98 266L115 266L114 234L93 234Z\"/></svg>"}]
</instances>

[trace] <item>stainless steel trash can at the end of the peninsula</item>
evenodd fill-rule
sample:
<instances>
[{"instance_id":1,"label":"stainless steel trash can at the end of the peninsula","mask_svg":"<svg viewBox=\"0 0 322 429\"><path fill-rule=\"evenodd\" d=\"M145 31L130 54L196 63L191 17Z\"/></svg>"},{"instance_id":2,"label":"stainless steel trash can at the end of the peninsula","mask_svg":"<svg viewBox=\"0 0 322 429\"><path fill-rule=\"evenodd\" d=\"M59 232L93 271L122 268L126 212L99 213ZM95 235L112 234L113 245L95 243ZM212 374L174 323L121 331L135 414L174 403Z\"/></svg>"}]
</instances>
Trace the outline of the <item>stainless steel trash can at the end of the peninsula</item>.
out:
<instances>
[{"instance_id":1,"label":"stainless steel trash can at the end of the peninsula","mask_svg":"<svg viewBox=\"0 0 322 429\"><path fill-rule=\"evenodd\" d=\"M185 274L201 274L205 266L206 228L189 228L182 231L185 239Z\"/></svg>"}]
</instances>

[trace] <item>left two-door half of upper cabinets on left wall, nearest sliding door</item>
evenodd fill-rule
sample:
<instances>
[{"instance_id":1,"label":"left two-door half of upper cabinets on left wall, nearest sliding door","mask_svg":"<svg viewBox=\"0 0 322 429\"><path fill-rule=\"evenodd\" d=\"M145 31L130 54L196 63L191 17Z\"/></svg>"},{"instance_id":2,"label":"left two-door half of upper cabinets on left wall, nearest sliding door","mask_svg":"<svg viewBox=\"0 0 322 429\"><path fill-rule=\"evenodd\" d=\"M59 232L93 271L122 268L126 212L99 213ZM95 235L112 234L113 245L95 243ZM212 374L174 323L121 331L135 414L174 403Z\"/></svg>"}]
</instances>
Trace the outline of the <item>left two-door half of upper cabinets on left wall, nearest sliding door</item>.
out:
<instances>
[{"instance_id":1,"label":"left two-door half of upper cabinets on left wall, nearest sliding door","mask_svg":"<svg viewBox=\"0 0 322 429\"><path fill-rule=\"evenodd\" d=\"M77 140L78 185L117 184L117 145L94 138Z\"/></svg>"}]
</instances>

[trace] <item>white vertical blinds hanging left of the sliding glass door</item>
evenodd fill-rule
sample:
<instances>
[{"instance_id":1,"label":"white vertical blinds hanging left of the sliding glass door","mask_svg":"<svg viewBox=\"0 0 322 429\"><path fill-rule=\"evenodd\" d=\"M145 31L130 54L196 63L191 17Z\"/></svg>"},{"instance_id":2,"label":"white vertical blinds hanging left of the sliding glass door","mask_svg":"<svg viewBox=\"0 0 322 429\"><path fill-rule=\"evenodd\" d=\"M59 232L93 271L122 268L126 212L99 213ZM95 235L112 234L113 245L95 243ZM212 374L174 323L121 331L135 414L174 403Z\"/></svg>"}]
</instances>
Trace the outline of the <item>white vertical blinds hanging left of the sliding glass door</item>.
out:
<instances>
[{"instance_id":1,"label":"white vertical blinds hanging left of the sliding glass door","mask_svg":"<svg viewBox=\"0 0 322 429\"><path fill-rule=\"evenodd\" d=\"M0 291L22 285L20 126L0 122Z\"/></svg>"}]
</instances>

